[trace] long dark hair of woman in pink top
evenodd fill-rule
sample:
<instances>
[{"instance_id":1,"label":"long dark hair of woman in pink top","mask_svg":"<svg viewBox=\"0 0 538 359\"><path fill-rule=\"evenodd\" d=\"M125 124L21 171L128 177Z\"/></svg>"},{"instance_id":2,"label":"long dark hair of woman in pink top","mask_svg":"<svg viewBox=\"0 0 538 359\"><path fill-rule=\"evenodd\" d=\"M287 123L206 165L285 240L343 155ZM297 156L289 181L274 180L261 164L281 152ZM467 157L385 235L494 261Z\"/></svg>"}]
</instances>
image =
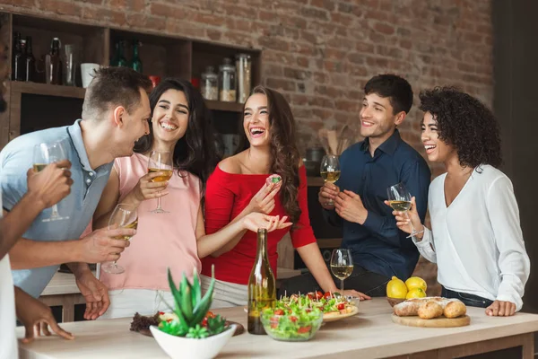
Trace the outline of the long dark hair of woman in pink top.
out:
<instances>
[{"instance_id":1,"label":"long dark hair of woman in pink top","mask_svg":"<svg viewBox=\"0 0 538 359\"><path fill-rule=\"evenodd\" d=\"M174 148L174 166L178 171L188 171L202 181L203 188L209 175L221 160L215 146L211 111L205 106L204 97L186 80L167 78L159 83L150 94L152 111L164 92L178 90L185 93L188 104L188 125L185 136ZM146 153L152 149L153 129L134 144L134 152Z\"/></svg>"}]
</instances>

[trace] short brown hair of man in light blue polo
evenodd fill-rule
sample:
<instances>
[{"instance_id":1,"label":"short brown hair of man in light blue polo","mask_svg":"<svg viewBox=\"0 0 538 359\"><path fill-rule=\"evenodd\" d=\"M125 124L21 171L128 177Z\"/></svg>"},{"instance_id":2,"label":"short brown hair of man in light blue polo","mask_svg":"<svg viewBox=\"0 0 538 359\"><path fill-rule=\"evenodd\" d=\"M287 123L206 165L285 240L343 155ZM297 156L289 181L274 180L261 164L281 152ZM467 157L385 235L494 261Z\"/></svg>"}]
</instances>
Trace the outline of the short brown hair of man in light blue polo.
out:
<instances>
[{"instance_id":1,"label":"short brown hair of man in light blue polo","mask_svg":"<svg viewBox=\"0 0 538 359\"><path fill-rule=\"evenodd\" d=\"M141 101L140 90L149 92L147 76L128 67L101 67L93 76L82 104L82 118L94 118L112 107L123 106L131 113Z\"/></svg>"}]
</instances>

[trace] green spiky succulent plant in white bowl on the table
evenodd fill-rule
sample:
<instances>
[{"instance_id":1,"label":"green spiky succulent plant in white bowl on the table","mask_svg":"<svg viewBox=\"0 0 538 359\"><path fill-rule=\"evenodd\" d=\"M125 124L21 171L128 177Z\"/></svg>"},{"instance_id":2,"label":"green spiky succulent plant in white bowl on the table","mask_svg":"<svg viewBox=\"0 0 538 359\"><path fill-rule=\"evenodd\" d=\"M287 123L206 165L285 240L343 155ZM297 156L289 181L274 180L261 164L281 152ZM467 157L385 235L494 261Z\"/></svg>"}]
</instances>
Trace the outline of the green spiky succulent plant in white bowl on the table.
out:
<instances>
[{"instance_id":1,"label":"green spiky succulent plant in white bowl on the table","mask_svg":"<svg viewBox=\"0 0 538 359\"><path fill-rule=\"evenodd\" d=\"M213 301L214 268L211 285L204 296L196 271L192 284L185 273L178 287L170 270L168 278L174 308L170 308L171 313L161 315L159 327L150 327L153 337L171 358L209 359L218 355L233 336L236 326L227 326L220 315L207 316Z\"/></svg>"}]
</instances>

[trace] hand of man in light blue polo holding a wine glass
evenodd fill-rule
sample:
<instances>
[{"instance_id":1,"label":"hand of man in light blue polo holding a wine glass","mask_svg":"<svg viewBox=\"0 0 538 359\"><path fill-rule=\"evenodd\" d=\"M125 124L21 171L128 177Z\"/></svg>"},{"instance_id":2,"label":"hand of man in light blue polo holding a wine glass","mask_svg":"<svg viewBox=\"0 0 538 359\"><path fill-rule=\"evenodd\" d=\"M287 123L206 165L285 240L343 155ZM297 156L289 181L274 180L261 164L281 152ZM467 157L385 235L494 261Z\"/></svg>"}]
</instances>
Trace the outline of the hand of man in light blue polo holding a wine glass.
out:
<instances>
[{"instance_id":1,"label":"hand of man in light blue polo holding a wine glass","mask_svg":"<svg viewBox=\"0 0 538 359\"><path fill-rule=\"evenodd\" d=\"M108 230L101 228L93 231L81 241L79 261L84 263L101 263L119 259L119 254L129 247L129 241L118 240L122 236L134 236L136 231L128 228Z\"/></svg>"}]
</instances>

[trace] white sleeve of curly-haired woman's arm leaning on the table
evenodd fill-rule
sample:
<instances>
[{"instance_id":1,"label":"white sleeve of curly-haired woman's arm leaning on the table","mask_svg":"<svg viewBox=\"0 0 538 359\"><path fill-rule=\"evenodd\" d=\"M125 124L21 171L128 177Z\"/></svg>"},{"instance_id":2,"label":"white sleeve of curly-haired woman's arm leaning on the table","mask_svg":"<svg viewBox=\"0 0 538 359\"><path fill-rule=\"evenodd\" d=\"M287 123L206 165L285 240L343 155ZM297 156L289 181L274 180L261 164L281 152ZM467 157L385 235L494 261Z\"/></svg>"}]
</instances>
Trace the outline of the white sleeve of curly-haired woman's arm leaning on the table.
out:
<instances>
[{"instance_id":1,"label":"white sleeve of curly-haired woman's arm leaning on the table","mask_svg":"<svg viewBox=\"0 0 538 359\"><path fill-rule=\"evenodd\" d=\"M499 250L501 282L496 299L515 303L516 311L520 311L531 263L525 250L514 188L508 177L499 177L491 183L486 207Z\"/></svg>"}]
</instances>

